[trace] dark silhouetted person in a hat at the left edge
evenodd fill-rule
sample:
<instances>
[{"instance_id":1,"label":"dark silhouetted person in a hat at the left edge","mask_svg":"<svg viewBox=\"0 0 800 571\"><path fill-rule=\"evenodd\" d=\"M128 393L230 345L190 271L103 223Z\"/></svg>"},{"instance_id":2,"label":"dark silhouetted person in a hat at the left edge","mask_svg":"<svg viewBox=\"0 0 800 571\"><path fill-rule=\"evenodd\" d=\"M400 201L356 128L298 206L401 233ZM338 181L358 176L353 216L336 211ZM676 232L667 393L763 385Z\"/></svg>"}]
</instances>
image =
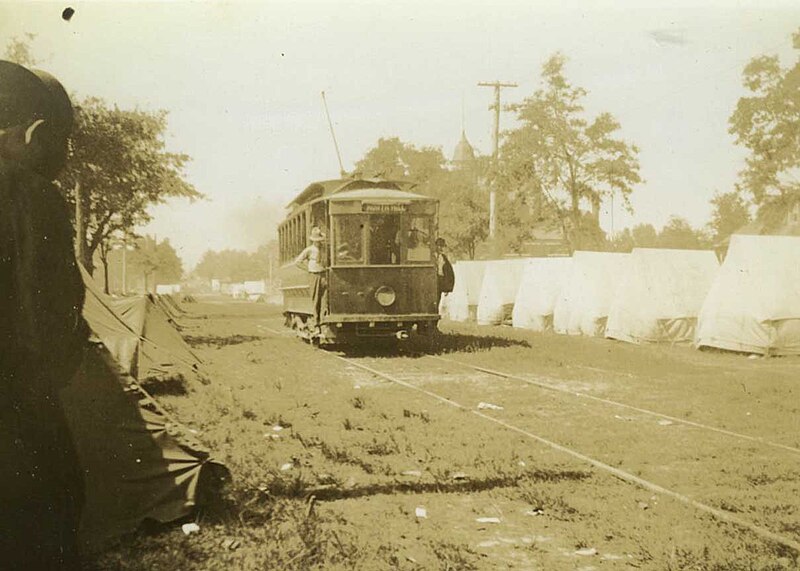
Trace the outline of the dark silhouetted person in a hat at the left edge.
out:
<instances>
[{"instance_id":1,"label":"dark silhouetted person in a hat at the left edge","mask_svg":"<svg viewBox=\"0 0 800 571\"><path fill-rule=\"evenodd\" d=\"M59 391L88 329L64 200L52 185L72 107L41 72L0 61L0 566L78 569L83 480Z\"/></svg>"}]
</instances>

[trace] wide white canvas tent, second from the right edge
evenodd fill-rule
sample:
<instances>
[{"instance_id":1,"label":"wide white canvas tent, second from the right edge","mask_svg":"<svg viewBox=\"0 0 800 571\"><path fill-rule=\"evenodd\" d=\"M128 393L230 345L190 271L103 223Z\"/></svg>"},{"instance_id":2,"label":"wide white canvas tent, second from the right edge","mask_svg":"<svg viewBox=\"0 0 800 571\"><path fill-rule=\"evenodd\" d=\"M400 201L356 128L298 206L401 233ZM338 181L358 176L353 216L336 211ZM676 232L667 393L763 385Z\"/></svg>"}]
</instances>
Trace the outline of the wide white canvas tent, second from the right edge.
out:
<instances>
[{"instance_id":1,"label":"wide white canvas tent, second from the right edge","mask_svg":"<svg viewBox=\"0 0 800 571\"><path fill-rule=\"evenodd\" d=\"M718 269L710 250L635 248L611 303L606 337L691 343Z\"/></svg>"}]
</instances>

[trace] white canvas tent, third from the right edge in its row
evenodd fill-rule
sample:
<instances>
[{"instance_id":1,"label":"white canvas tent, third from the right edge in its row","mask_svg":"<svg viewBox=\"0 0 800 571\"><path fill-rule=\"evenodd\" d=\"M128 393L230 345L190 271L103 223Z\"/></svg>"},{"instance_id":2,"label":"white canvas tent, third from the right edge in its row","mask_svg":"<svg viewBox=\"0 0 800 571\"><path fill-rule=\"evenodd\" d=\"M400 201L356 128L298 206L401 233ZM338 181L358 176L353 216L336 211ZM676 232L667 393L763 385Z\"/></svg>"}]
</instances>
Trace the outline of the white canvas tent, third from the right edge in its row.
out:
<instances>
[{"instance_id":1,"label":"white canvas tent, third from the right edge in its row","mask_svg":"<svg viewBox=\"0 0 800 571\"><path fill-rule=\"evenodd\" d=\"M556 333L602 336L628 254L575 252L553 311Z\"/></svg>"}]
</instances>

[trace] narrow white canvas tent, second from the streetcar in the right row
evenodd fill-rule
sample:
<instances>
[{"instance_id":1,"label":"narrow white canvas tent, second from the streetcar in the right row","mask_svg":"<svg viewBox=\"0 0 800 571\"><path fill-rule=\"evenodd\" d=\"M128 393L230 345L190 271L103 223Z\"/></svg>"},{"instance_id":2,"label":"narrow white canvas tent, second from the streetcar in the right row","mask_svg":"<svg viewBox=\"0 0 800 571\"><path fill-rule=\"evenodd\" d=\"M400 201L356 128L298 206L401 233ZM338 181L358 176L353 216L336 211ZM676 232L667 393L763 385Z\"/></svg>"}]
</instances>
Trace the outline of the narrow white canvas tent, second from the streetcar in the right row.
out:
<instances>
[{"instance_id":1,"label":"narrow white canvas tent, second from the streetcar in the right row","mask_svg":"<svg viewBox=\"0 0 800 571\"><path fill-rule=\"evenodd\" d=\"M514 300L528 258L486 262L477 319L481 325L499 325L511 318Z\"/></svg>"}]
</instances>

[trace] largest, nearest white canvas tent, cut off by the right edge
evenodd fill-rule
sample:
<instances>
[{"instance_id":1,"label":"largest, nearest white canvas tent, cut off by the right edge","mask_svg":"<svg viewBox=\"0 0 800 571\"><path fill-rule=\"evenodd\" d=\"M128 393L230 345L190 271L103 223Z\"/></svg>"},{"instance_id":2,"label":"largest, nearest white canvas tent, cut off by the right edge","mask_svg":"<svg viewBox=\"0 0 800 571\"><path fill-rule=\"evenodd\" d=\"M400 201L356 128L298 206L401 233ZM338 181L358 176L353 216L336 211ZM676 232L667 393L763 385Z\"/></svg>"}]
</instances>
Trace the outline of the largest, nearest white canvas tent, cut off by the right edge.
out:
<instances>
[{"instance_id":1,"label":"largest, nearest white canvas tent, cut off by the right edge","mask_svg":"<svg viewBox=\"0 0 800 571\"><path fill-rule=\"evenodd\" d=\"M696 345L800 355L800 237L731 236L700 311Z\"/></svg>"}]
</instances>

